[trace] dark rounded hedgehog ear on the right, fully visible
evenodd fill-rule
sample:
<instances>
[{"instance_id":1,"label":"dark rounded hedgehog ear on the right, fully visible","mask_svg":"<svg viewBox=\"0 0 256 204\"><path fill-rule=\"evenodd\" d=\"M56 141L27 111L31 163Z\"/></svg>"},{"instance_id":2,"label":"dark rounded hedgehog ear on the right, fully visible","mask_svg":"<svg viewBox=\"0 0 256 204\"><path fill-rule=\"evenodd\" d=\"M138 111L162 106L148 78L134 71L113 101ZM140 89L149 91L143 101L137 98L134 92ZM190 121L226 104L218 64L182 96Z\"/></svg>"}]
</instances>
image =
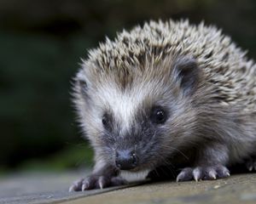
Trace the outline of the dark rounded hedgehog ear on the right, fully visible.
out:
<instances>
[{"instance_id":1,"label":"dark rounded hedgehog ear on the right, fully visible","mask_svg":"<svg viewBox=\"0 0 256 204\"><path fill-rule=\"evenodd\" d=\"M185 95L191 95L195 92L199 82L200 69L196 60L191 57L178 58L174 63L174 78Z\"/></svg>"}]
</instances>

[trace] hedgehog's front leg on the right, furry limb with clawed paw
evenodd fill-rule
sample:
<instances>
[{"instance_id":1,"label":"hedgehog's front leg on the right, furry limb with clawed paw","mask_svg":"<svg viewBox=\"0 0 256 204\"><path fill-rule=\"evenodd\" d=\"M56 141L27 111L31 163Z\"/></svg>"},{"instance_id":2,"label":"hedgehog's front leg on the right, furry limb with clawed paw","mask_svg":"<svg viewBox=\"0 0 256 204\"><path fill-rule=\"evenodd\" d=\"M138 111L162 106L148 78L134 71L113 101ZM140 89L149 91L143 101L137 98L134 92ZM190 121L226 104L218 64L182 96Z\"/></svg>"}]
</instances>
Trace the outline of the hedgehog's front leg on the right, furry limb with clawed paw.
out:
<instances>
[{"instance_id":1,"label":"hedgehog's front leg on the right, furry limb with clawed paw","mask_svg":"<svg viewBox=\"0 0 256 204\"><path fill-rule=\"evenodd\" d=\"M226 178L230 176L230 171L225 167L227 162L228 150L224 144L208 144L199 150L195 167L183 168L177 175L177 181Z\"/></svg>"}]
</instances>

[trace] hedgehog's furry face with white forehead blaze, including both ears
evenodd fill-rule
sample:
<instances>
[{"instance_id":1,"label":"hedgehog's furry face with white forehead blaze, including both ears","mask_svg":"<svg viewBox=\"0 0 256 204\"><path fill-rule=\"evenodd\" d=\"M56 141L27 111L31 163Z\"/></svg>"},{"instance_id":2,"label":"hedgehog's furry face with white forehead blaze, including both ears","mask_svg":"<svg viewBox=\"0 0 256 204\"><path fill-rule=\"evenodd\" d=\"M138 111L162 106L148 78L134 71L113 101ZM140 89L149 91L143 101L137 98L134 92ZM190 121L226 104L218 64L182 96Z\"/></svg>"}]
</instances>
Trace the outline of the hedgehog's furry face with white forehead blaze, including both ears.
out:
<instances>
[{"instance_id":1,"label":"hedgehog's furry face with white forehead blaze, including both ears","mask_svg":"<svg viewBox=\"0 0 256 204\"><path fill-rule=\"evenodd\" d=\"M194 133L195 60L182 58L171 67L167 62L159 66L130 76L125 86L117 73L101 78L79 73L75 102L82 126L96 155L120 169L162 164Z\"/></svg>"}]
</instances>

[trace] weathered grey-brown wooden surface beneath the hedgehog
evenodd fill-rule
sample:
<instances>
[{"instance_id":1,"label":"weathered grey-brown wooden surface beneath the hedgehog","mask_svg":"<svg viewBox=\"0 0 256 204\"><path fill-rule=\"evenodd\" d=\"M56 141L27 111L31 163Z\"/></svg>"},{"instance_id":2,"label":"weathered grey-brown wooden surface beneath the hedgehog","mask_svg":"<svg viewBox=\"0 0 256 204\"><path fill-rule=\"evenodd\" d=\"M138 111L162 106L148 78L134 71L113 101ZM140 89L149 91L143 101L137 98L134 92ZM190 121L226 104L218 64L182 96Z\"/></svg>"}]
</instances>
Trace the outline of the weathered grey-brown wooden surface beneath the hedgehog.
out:
<instances>
[{"instance_id":1,"label":"weathered grey-brown wooden surface beneath the hedgehog","mask_svg":"<svg viewBox=\"0 0 256 204\"><path fill-rule=\"evenodd\" d=\"M0 203L256 203L256 173L214 181L138 183L69 193L73 180L88 173L23 173L0 178Z\"/></svg>"}]
</instances>

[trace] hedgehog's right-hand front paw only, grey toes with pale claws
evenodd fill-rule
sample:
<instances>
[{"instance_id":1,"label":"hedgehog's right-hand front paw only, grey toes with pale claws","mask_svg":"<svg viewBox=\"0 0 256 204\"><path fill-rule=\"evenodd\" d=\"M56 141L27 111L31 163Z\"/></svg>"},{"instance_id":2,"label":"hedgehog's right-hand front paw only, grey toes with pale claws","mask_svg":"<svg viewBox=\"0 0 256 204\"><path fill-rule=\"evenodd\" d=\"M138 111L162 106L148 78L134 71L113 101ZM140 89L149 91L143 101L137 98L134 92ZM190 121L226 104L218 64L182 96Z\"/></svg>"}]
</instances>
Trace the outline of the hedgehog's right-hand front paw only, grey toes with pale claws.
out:
<instances>
[{"instance_id":1,"label":"hedgehog's right-hand front paw only, grey toes with pale claws","mask_svg":"<svg viewBox=\"0 0 256 204\"><path fill-rule=\"evenodd\" d=\"M177 175L178 181L189 180L214 180L217 178L226 178L230 176L230 171L222 165L209 166L209 167L186 167L183 168L181 173Z\"/></svg>"}]
</instances>

